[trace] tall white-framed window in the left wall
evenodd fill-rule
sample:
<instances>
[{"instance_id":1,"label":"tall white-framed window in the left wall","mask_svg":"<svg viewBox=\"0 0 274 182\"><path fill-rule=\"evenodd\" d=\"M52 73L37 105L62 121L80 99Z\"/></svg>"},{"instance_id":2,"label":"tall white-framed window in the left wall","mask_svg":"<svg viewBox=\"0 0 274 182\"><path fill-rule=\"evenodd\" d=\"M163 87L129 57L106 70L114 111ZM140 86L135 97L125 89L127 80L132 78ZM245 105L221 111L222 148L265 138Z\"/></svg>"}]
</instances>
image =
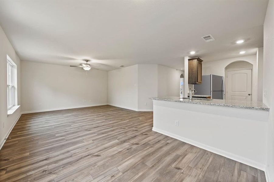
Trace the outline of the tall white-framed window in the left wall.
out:
<instances>
[{"instance_id":1,"label":"tall white-framed window in the left wall","mask_svg":"<svg viewBox=\"0 0 274 182\"><path fill-rule=\"evenodd\" d=\"M7 56L8 110L14 106L14 63Z\"/></svg>"}]
</instances>

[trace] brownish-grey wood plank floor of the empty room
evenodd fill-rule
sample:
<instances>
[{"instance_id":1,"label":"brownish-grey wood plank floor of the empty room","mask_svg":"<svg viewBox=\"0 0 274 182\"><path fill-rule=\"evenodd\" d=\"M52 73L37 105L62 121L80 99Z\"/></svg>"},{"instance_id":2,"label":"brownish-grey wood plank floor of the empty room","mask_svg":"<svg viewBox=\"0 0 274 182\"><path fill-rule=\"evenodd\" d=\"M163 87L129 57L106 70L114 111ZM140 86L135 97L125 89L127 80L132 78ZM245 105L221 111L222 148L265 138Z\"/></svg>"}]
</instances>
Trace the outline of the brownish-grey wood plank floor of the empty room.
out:
<instances>
[{"instance_id":1,"label":"brownish-grey wood plank floor of the empty room","mask_svg":"<svg viewBox=\"0 0 274 182\"><path fill-rule=\"evenodd\" d=\"M152 124L152 112L108 105L23 114L0 150L0 181L265 182Z\"/></svg>"}]
</instances>

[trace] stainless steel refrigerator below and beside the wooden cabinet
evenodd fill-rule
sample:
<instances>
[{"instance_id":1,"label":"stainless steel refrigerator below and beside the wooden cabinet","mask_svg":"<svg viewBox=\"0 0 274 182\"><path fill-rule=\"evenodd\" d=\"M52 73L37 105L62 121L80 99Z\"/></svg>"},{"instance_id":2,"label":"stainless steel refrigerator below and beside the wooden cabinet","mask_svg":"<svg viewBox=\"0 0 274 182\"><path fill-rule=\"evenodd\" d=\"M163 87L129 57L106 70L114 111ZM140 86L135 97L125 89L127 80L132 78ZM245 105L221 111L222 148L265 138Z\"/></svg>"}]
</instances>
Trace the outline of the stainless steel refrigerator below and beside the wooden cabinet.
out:
<instances>
[{"instance_id":1,"label":"stainless steel refrigerator below and beside the wooden cabinet","mask_svg":"<svg viewBox=\"0 0 274 182\"><path fill-rule=\"evenodd\" d=\"M224 77L203 75L202 84L194 85L196 95L210 95L211 99L224 99Z\"/></svg>"}]
</instances>

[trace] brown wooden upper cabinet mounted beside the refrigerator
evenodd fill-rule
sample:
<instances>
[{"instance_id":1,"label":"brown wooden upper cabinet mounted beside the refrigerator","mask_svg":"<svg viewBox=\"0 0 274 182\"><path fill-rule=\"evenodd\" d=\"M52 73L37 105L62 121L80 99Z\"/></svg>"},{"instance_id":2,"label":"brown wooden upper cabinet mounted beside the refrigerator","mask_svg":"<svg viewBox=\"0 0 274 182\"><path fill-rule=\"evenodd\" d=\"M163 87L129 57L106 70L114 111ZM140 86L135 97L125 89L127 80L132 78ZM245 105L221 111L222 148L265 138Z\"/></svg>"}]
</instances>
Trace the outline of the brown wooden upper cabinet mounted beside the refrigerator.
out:
<instances>
[{"instance_id":1,"label":"brown wooden upper cabinet mounted beside the refrigerator","mask_svg":"<svg viewBox=\"0 0 274 182\"><path fill-rule=\"evenodd\" d=\"M188 83L201 84L202 83L202 62L200 58L188 59Z\"/></svg>"}]
</instances>

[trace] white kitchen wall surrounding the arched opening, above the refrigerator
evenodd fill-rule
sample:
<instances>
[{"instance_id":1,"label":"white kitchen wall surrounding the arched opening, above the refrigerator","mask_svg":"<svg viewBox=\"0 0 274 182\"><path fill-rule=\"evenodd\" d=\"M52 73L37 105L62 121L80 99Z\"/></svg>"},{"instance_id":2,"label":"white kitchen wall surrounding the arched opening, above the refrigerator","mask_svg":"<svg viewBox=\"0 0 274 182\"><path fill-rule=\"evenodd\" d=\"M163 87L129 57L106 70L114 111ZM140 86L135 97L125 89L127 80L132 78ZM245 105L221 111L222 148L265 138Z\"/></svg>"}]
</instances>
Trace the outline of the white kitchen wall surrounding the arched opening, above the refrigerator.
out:
<instances>
[{"instance_id":1,"label":"white kitchen wall surrounding the arched opening, above the refrigerator","mask_svg":"<svg viewBox=\"0 0 274 182\"><path fill-rule=\"evenodd\" d=\"M225 77L225 67L235 61L247 61L253 65L252 69L252 100L257 100L257 57L256 55L242 56L231 59L223 59L218 61L203 62L202 74L203 75L219 75Z\"/></svg>"}]
</instances>

